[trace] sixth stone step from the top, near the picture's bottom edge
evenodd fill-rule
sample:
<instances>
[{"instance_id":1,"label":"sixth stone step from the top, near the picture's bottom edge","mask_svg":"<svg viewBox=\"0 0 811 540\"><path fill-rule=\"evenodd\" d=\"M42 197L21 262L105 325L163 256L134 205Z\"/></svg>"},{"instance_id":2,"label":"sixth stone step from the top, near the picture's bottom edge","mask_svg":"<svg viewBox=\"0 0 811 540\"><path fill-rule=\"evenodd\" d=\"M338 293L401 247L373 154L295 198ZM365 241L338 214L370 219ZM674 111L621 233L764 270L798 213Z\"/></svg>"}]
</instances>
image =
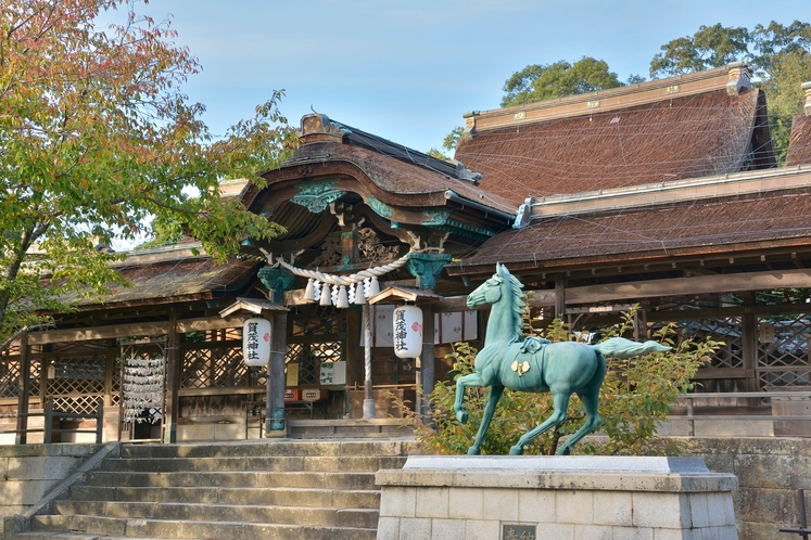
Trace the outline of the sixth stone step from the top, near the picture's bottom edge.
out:
<instances>
[{"instance_id":1,"label":"sixth stone step from the top, near the picture's bottom edge","mask_svg":"<svg viewBox=\"0 0 811 540\"><path fill-rule=\"evenodd\" d=\"M71 531L109 535L123 538L206 538L211 540L375 540L375 528L317 527L307 525L115 518L86 515L34 516L33 532ZM22 538L22 537L21 537ZM45 537L49 538L49 537ZM52 536L50 538L53 538ZM81 537L79 537L81 538ZM92 537L91 537L92 538Z\"/></svg>"}]
</instances>

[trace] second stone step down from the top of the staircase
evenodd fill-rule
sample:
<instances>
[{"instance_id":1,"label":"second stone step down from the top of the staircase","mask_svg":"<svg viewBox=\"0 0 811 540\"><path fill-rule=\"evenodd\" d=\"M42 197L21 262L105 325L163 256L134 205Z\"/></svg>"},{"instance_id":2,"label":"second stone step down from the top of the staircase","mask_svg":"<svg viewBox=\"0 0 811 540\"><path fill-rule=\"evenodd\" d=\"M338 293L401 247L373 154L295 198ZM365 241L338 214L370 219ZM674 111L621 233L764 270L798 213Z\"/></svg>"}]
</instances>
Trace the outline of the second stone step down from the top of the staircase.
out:
<instances>
[{"instance_id":1,"label":"second stone step down from the top of the staircase","mask_svg":"<svg viewBox=\"0 0 811 540\"><path fill-rule=\"evenodd\" d=\"M224 472L307 471L371 472L400 468L405 457L381 455L276 455L232 458L121 458L104 462L104 471Z\"/></svg>"}]
</instances>

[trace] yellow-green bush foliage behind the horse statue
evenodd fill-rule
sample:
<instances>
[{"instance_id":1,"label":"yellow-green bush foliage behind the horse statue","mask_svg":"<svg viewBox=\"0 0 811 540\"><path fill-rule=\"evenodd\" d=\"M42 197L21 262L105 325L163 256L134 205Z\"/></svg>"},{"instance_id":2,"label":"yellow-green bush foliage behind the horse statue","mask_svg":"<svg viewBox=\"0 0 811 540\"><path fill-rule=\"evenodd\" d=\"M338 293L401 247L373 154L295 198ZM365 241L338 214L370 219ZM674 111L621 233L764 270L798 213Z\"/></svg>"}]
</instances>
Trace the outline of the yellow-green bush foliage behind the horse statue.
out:
<instances>
[{"instance_id":1,"label":"yellow-green bush foliage behind the horse statue","mask_svg":"<svg viewBox=\"0 0 811 540\"><path fill-rule=\"evenodd\" d=\"M609 338L628 333L633 325L633 312L617 326L603 329L599 335ZM528 327L528 326L525 326ZM546 336L553 342L574 340L578 336L559 320L547 329ZM675 454L680 448L674 441L656 436L657 427L664 421L669 408L680 394L693 388L690 378L704 365L708 357L721 343L692 339L676 342L673 326L664 326L654 336L670 345L669 352L651 353L626 360L608 359L608 373L600 389L599 414L603 419L600 430L608 439L597 445L586 439L575 447L581 453L616 455L661 455ZM476 348L467 343L455 345L449 357L454 362L454 380L473 372ZM416 424L416 436L426 453L462 454L472 443L481 424L481 416L487 399L487 390L468 389L466 410L470 414L468 424L456 421L454 400L456 385L439 382L427 396L430 412L427 417L416 414L402 402L405 417ZM506 454L518 438L548 417L553 410L549 394L529 394L505 389L494 422L482 446L482 453ZM525 449L525 453L554 455L559 441L576 432L584 421L576 395L572 396L563 424L546 432Z\"/></svg>"}]
</instances>

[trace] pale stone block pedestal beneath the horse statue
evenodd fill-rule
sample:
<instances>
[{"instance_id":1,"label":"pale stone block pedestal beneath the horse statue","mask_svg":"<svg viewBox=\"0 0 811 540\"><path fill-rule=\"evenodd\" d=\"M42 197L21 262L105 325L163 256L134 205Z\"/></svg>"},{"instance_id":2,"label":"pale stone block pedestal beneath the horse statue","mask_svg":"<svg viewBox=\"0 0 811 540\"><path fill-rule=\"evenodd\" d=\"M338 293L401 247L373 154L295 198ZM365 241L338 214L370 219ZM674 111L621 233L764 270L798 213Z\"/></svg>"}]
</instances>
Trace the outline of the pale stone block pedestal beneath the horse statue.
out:
<instances>
[{"instance_id":1,"label":"pale stone block pedestal beneath the horse statue","mask_svg":"<svg viewBox=\"0 0 811 540\"><path fill-rule=\"evenodd\" d=\"M378 539L737 540L737 478L700 458L409 457Z\"/></svg>"}]
</instances>

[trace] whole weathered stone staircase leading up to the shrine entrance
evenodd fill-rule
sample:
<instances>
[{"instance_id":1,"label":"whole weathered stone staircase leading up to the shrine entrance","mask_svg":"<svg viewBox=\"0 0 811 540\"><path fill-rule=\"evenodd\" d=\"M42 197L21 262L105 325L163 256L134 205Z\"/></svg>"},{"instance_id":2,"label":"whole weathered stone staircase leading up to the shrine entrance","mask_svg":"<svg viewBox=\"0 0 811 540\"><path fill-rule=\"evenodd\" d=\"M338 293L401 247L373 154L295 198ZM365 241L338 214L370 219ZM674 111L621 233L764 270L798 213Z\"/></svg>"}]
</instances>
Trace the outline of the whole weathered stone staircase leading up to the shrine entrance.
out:
<instances>
[{"instance_id":1,"label":"whole weathered stone staircase leading up to the shrine entrance","mask_svg":"<svg viewBox=\"0 0 811 540\"><path fill-rule=\"evenodd\" d=\"M407 451L391 440L123 446L5 538L373 540L375 473Z\"/></svg>"}]
</instances>

